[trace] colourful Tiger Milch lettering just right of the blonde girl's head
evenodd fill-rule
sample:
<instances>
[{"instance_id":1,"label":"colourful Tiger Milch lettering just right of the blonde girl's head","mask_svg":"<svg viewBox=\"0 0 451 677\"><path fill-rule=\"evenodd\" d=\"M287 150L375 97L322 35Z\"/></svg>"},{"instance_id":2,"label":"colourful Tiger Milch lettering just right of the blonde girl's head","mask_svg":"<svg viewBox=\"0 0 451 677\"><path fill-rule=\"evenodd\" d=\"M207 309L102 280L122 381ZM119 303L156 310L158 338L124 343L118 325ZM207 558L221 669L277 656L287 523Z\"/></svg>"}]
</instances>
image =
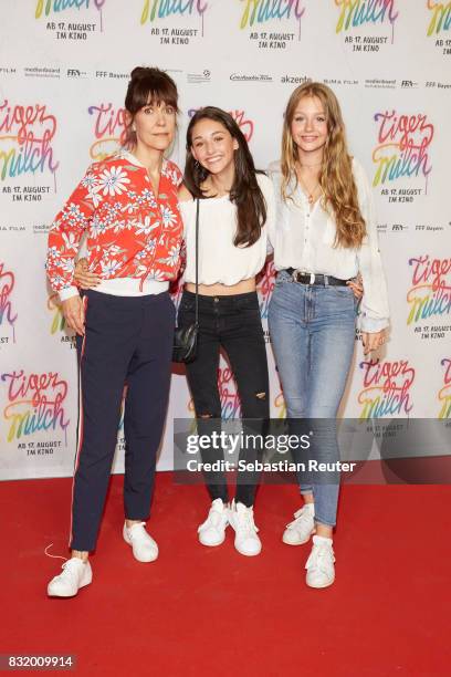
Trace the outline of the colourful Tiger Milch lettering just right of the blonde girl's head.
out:
<instances>
[{"instance_id":1,"label":"colourful Tiger Milch lettering just right of the blonde girl's head","mask_svg":"<svg viewBox=\"0 0 451 677\"><path fill-rule=\"evenodd\" d=\"M402 114L380 111L374 116L377 145L373 150L376 167L374 186L392 185L400 179L423 178L426 190L432 171L429 157L434 126L424 113Z\"/></svg>"}]
</instances>

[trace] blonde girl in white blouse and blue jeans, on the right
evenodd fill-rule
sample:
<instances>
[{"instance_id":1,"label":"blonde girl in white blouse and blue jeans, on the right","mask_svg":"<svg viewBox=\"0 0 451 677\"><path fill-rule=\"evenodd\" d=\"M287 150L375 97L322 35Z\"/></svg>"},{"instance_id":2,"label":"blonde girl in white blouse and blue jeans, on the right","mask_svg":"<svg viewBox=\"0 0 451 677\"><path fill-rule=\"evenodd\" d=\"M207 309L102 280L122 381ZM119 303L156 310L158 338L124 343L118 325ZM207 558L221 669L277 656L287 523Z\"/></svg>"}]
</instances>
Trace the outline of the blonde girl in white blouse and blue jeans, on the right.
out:
<instances>
[{"instance_id":1,"label":"blonde girl in white blouse and blue jeans, on the right","mask_svg":"<svg viewBox=\"0 0 451 677\"><path fill-rule=\"evenodd\" d=\"M357 315L349 282L358 271L365 354L385 342L389 310L371 189L348 154L339 104L326 85L305 83L293 92L282 158L271 175L277 202L271 240L279 272L269 324L287 417L292 425L301 418L325 419L312 449L321 461L335 462L335 418L350 368ZM298 480L304 506L283 541L298 545L315 534L306 583L326 587L335 579L332 535L339 476L300 475Z\"/></svg>"}]
</instances>

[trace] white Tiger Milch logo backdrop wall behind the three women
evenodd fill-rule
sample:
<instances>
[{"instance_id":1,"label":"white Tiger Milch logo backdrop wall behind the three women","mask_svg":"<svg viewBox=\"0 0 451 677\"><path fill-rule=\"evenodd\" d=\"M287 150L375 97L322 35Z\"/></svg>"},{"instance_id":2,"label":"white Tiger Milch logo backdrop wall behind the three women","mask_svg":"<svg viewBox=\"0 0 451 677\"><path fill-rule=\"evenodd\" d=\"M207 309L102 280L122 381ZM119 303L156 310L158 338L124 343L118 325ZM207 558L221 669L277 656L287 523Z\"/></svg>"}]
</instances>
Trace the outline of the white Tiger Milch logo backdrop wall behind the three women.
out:
<instances>
[{"instance_id":1,"label":"white Tiger Milch logo backdrop wall behind the three women","mask_svg":"<svg viewBox=\"0 0 451 677\"><path fill-rule=\"evenodd\" d=\"M86 166L116 148L136 65L158 65L177 82L180 167L186 125L200 106L230 111L264 169L279 157L294 87L313 79L334 88L352 153L373 183L391 306L382 352L364 357L356 336L342 413L450 417L451 2L1 0L0 12L3 479L72 472L76 355L45 281L46 238ZM273 273L270 263L259 285L265 326ZM272 413L283 417L266 337ZM226 361L219 383L223 417L235 417ZM191 416L183 371L175 368L160 469L171 467L174 418ZM116 470L123 450L120 426Z\"/></svg>"}]
</instances>

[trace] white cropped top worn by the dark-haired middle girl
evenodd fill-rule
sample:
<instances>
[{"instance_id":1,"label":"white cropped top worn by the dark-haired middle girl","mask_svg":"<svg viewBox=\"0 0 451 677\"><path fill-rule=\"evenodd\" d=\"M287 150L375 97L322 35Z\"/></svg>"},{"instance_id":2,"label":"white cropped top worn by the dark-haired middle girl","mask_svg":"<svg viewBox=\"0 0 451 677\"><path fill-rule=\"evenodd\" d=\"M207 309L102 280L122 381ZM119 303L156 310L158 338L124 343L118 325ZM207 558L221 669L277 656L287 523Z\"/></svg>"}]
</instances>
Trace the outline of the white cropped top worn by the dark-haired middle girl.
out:
<instances>
[{"instance_id":1,"label":"white cropped top worn by the dark-haired middle girl","mask_svg":"<svg viewBox=\"0 0 451 677\"><path fill-rule=\"evenodd\" d=\"M266 222L251 247L235 247L237 207L228 196L206 198L199 204L199 284L232 285L253 278L266 259L268 232L273 229L275 199L272 181L258 174L266 201ZM196 282L196 200L179 204L183 219L187 264L185 281Z\"/></svg>"}]
</instances>

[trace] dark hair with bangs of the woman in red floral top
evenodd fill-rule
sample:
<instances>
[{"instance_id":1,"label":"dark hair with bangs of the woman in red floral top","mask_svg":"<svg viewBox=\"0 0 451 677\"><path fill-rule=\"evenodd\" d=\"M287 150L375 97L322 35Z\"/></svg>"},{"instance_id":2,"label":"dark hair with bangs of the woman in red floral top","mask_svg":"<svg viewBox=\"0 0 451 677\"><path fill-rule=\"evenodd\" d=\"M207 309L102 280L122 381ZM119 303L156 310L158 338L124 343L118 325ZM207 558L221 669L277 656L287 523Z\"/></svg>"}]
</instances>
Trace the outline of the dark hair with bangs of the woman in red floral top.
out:
<instances>
[{"instance_id":1,"label":"dark hair with bangs of the woman in red floral top","mask_svg":"<svg viewBox=\"0 0 451 677\"><path fill-rule=\"evenodd\" d=\"M137 66L134 69L125 96L125 108L130 114L130 118L120 138L123 146L130 148L136 144L136 134L133 131L136 113L148 103L158 105L162 102L172 106L176 113L179 112L177 85L170 75L156 67Z\"/></svg>"}]
</instances>

